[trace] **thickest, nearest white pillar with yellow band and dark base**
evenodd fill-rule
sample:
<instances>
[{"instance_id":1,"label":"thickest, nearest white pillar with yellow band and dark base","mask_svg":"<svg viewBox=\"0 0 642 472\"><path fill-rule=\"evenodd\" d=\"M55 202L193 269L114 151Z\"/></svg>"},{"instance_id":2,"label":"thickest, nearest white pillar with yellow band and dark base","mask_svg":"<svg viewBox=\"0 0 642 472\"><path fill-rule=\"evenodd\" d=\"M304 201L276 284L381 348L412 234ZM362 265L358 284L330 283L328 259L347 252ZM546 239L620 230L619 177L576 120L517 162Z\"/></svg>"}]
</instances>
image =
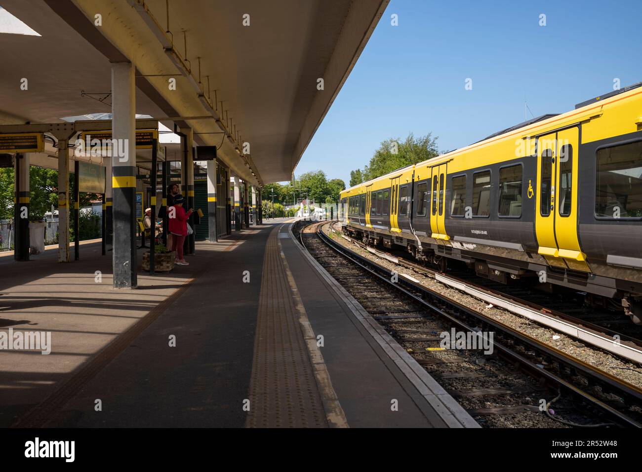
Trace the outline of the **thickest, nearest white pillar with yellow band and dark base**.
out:
<instances>
[{"instance_id":1,"label":"thickest, nearest white pillar with yellow band and dark base","mask_svg":"<svg viewBox=\"0 0 642 472\"><path fill-rule=\"evenodd\" d=\"M114 288L136 288L136 86L130 62L112 63Z\"/></svg>"}]
</instances>

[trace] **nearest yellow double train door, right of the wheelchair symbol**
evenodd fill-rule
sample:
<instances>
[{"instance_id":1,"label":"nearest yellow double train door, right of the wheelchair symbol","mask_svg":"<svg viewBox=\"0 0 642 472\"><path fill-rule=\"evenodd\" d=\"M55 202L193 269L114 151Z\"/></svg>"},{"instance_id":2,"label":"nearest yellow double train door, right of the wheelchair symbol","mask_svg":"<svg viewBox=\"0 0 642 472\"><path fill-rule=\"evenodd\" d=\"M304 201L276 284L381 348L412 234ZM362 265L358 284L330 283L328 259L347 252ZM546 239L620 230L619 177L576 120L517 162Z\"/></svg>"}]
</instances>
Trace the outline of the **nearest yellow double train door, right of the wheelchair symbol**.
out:
<instances>
[{"instance_id":1,"label":"nearest yellow double train door, right of the wheelchair symbol","mask_svg":"<svg viewBox=\"0 0 642 472\"><path fill-rule=\"evenodd\" d=\"M577 150L577 127L537 141L537 252L551 266L590 272L577 237Z\"/></svg>"}]
</instances>

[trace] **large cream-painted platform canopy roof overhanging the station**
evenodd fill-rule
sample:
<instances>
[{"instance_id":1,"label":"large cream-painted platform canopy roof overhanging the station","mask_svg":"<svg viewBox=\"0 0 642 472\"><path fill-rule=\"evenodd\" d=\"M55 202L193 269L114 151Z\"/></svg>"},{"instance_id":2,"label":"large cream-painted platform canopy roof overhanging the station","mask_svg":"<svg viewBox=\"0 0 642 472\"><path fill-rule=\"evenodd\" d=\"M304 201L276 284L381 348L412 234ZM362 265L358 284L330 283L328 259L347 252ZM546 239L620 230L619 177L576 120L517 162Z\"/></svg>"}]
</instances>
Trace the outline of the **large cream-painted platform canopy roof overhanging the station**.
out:
<instances>
[{"instance_id":1,"label":"large cream-painted platform canopy roof overhanging the station","mask_svg":"<svg viewBox=\"0 0 642 472\"><path fill-rule=\"evenodd\" d=\"M192 128L251 184L289 180L387 4L1 0L39 36L0 33L0 123L109 112L110 62L130 61L137 114Z\"/></svg>"}]
</instances>

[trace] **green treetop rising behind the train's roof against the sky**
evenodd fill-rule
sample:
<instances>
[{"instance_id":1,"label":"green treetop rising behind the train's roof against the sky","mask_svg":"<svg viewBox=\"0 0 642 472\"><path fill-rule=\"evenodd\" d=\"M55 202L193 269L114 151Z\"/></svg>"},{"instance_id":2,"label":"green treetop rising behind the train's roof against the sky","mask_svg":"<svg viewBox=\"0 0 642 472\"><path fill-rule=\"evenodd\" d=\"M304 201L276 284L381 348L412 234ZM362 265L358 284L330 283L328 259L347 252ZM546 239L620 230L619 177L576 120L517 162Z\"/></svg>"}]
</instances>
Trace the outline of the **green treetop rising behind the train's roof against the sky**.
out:
<instances>
[{"instance_id":1,"label":"green treetop rising behind the train's roof against the sky","mask_svg":"<svg viewBox=\"0 0 642 472\"><path fill-rule=\"evenodd\" d=\"M437 155L439 155L437 137L432 137L431 133L420 137L415 137L410 133L403 142L399 138L386 139L363 170L351 171L350 184L353 186L370 179L376 179L395 169L427 161Z\"/></svg>"}]
</instances>

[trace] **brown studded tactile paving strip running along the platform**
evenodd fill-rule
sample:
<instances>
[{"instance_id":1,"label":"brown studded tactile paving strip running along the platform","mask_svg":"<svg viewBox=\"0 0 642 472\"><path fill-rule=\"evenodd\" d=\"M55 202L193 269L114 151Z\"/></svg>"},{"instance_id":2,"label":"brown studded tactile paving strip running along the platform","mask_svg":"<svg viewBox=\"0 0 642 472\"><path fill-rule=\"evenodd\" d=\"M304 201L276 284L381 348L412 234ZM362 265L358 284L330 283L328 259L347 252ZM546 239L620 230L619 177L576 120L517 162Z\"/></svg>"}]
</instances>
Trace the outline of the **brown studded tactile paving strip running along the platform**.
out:
<instances>
[{"instance_id":1,"label":"brown studded tactile paving strip running along the platform","mask_svg":"<svg viewBox=\"0 0 642 472\"><path fill-rule=\"evenodd\" d=\"M308 348L279 253L270 234L263 259L254 361L250 380L250 428L327 427Z\"/></svg>"}]
</instances>

